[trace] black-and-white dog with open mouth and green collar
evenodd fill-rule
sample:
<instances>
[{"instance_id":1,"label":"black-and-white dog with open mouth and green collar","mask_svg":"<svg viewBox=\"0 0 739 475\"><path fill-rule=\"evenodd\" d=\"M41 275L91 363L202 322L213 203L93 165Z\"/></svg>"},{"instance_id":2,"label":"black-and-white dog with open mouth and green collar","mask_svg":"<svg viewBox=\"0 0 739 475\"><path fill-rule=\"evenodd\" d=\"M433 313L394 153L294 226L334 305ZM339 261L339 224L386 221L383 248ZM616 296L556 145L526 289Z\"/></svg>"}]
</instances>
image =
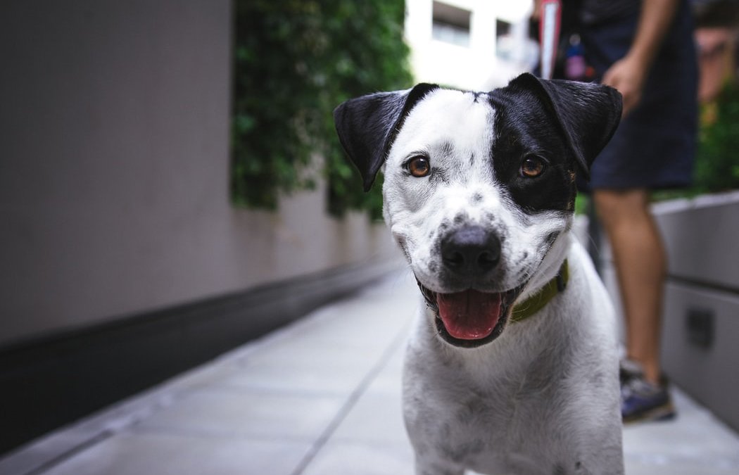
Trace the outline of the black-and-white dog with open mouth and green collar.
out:
<instances>
[{"instance_id":1,"label":"black-and-white dog with open mouth and green collar","mask_svg":"<svg viewBox=\"0 0 739 475\"><path fill-rule=\"evenodd\" d=\"M334 111L418 281L403 369L417 475L623 474L613 307L571 233L576 177L621 95L525 73L421 83Z\"/></svg>"}]
</instances>

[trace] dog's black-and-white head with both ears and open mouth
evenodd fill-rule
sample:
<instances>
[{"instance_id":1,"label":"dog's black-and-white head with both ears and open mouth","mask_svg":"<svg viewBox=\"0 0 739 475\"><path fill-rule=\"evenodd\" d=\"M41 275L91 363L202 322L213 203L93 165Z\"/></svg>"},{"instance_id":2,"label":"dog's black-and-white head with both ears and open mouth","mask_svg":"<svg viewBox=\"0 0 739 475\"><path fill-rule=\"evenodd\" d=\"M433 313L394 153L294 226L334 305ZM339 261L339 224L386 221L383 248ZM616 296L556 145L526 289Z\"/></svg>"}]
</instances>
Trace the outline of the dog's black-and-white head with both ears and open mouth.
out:
<instances>
[{"instance_id":1,"label":"dog's black-and-white head with both ears and open mouth","mask_svg":"<svg viewBox=\"0 0 739 475\"><path fill-rule=\"evenodd\" d=\"M334 117L365 190L385 166L385 220L439 334L480 346L570 228L576 174L588 176L616 130L621 97L524 74L491 92L367 95Z\"/></svg>"}]
</instances>

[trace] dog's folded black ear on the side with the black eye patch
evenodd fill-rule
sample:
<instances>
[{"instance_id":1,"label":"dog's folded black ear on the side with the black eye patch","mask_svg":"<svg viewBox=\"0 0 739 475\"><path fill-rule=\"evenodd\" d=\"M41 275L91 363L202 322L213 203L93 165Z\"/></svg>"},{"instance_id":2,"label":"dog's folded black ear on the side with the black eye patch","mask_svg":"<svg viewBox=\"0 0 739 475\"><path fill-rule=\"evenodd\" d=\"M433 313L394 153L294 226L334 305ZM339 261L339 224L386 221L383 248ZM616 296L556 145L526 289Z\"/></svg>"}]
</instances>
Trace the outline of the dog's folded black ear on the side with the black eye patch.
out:
<instances>
[{"instance_id":1,"label":"dog's folded black ear on the side with the black eye patch","mask_svg":"<svg viewBox=\"0 0 739 475\"><path fill-rule=\"evenodd\" d=\"M546 81L524 73L508 84L533 92L556 117L586 178L590 165L621 121L621 93L609 86L576 81Z\"/></svg>"}]
</instances>

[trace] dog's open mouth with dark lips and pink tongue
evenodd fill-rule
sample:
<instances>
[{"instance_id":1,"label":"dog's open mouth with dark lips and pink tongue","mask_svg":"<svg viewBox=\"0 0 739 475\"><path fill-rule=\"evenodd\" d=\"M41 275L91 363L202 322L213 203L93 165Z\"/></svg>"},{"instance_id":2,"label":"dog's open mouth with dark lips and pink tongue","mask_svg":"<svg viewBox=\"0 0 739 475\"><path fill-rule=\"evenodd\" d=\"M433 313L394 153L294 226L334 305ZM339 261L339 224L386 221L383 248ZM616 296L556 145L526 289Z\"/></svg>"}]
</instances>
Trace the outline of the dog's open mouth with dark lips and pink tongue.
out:
<instances>
[{"instance_id":1,"label":"dog's open mouth with dark lips and pink tongue","mask_svg":"<svg viewBox=\"0 0 739 475\"><path fill-rule=\"evenodd\" d=\"M436 313L439 336L454 346L474 348L490 343L503 332L511 306L524 286L502 293L474 289L436 293L420 282L418 287Z\"/></svg>"}]
</instances>

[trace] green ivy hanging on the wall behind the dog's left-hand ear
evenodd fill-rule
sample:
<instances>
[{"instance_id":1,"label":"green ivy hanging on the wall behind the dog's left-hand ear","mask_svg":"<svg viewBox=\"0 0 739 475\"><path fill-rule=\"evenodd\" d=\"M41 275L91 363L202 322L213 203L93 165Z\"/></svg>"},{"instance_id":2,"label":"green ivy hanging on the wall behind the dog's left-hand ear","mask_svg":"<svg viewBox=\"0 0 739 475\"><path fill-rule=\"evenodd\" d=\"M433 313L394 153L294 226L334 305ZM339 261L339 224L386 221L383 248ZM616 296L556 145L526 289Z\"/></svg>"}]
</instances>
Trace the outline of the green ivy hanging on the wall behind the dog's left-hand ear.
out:
<instances>
[{"instance_id":1,"label":"green ivy hanging on the wall behind the dog's left-hand ear","mask_svg":"<svg viewBox=\"0 0 739 475\"><path fill-rule=\"evenodd\" d=\"M231 194L276 208L281 192L327 180L329 208L381 215L380 181L364 194L333 125L342 101L411 86L398 0L237 0ZM322 170L315 171L316 157ZM320 160L319 160L320 161Z\"/></svg>"}]
</instances>

